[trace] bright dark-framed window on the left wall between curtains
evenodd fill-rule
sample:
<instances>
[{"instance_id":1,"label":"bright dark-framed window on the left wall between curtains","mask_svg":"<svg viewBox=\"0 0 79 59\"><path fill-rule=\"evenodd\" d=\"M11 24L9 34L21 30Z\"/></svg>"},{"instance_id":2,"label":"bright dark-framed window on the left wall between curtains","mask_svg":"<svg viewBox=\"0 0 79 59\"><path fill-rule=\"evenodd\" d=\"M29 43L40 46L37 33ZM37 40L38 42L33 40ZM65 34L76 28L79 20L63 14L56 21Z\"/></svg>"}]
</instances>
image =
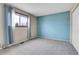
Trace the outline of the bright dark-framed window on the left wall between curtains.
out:
<instances>
[{"instance_id":1,"label":"bright dark-framed window on the left wall between curtains","mask_svg":"<svg viewBox=\"0 0 79 59\"><path fill-rule=\"evenodd\" d=\"M27 19L28 17L19 13L13 14L13 25L16 27L25 27L27 26Z\"/></svg>"}]
</instances>

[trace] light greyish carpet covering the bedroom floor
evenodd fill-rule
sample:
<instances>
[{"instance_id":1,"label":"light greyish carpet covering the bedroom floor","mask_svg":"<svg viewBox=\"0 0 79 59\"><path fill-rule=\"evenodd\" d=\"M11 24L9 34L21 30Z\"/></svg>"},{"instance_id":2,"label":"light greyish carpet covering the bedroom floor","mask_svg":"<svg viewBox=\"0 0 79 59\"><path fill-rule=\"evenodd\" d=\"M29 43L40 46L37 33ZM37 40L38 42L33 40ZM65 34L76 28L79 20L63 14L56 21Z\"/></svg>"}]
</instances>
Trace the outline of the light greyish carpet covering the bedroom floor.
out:
<instances>
[{"instance_id":1,"label":"light greyish carpet covering the bedroom floor","mask_svg":"<svg viewBox=\"0 0 79 59\"><path fill-rule=\"evenodd\" d=\"M76 55L75 48L68 42L33 39L3 50L1 55Z\"/></svg>"}]
</instances>

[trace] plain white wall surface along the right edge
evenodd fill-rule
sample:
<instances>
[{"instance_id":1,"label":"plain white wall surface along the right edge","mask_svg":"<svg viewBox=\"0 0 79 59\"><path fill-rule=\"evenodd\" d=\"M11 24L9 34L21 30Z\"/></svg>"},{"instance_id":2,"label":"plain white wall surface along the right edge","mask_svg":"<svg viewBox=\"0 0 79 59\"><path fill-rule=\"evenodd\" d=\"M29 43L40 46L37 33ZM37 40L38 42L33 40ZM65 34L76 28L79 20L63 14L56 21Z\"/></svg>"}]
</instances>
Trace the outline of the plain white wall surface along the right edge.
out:
<instances>
[{"instance_id":1,"label":"plain white wall surface along the right edge","mask_svg":"<svg viewBox=\"0 0 79 59\"><path fill-rule=\"evenodd\" d=\"M72 44L79 53L79 6L72 12Z\"/></svg>"}]
</instances>

